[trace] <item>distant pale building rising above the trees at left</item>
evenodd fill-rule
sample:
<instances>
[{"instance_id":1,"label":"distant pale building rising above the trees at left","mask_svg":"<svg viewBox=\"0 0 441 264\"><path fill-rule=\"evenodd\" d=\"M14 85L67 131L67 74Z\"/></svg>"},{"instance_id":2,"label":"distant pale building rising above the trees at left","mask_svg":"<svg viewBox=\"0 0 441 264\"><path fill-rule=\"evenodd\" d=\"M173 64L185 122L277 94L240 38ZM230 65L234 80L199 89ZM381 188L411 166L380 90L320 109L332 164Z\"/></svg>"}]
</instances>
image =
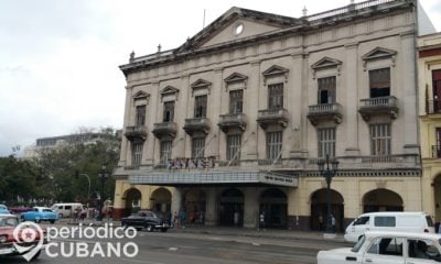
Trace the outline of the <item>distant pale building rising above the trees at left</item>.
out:
<instances>
[{"instance_id":1,"label":"distant pale building rising above the trees at left","mask_svg":"<svg viewBox=\"0 0 441 264\"><path fill-rule=\"evenodd\" d=\"M36 144L24 148L23 158L37 157L39 151L61 147L68 144L90 144L108 136L106 133L85 132L68 135L36 139Z\"/></svg>"}]
</instances>

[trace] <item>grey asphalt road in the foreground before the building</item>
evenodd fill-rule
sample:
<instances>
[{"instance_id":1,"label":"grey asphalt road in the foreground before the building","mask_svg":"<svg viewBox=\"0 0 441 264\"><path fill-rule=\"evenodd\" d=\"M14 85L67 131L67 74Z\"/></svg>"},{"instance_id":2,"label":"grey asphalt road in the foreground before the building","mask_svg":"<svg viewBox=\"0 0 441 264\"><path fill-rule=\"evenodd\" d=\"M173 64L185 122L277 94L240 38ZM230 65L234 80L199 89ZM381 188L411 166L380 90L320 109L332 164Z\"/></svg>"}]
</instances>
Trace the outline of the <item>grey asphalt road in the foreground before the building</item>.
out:
<instances>
[{"instance_id":1,"label":"grey asphalt road in the foreground before the building","mask_svg":"<svg viewBox=\"0 0 441 264\"><path fill-rule=\"evenodd\" d=\"M35 263L39 264L67 264L67 263L93 263L93 264L119 264L119 263L144 263L144 264L292 264L315 263L315 255L322 249L335 249L347 246L342 242L316 240L316 239L268 239L249 238L241 235L222 235L204 233L182 233L173 230L168 233L144 231L138 232L133 239L54 239L58 243L50 250L49 256L44 251ZM98 242L98 244L96 243ZM139 251L133 257L125 255L123 246L133 242ZM121 256L115 253L111 257L107 255L108 243L117 248L121 246ZM62 249L63 244L63 249ZM64 253L77 252L77 244L87 246L84 257L64 257ZM73 248L71 248L73 246ZM103 249L105 257L100 255ZM74 250L73 250L74 249ZM127 246L128 253L135 253L133 246ZM86 251L84 251L86 252ZM90 255L95 252L95 256ZM18 257L1 257L0 263L28 263Z\"/></svg>"}]
</instances>

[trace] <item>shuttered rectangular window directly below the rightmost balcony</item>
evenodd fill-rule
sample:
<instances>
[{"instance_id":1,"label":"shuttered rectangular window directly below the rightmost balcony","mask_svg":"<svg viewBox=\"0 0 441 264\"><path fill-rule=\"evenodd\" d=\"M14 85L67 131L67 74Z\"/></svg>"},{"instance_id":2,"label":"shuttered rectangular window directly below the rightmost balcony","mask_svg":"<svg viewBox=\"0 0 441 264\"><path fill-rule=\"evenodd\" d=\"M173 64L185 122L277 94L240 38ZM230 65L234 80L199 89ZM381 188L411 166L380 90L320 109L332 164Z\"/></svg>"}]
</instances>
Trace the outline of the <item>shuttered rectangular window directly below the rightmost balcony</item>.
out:
<instances>
[{"instance_id":1,"label":"shuttered rectangular window directly below the rightmost balcony","mask_svg":"<svg viewBox=\"0 0 441 264\"><path fill-rule=\"evenodd\" d=\"M370 125L370 152L374 156L390 155L390 124Z\"/></svg>"}]
</instances>

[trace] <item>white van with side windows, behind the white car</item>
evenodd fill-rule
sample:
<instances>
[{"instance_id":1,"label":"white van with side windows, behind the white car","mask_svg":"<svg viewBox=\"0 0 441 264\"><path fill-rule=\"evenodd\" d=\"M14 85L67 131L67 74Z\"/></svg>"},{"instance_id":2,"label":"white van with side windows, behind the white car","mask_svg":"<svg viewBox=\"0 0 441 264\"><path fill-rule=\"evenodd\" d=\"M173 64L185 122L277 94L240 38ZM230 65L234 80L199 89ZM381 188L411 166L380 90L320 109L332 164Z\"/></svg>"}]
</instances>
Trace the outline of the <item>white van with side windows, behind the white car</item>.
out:
<instances>
[{"instance_id":1,"label":"white van with side windows, behind the white car","mask_svg":"<svg viewBox=\"0 0 441 264\"><path fill-rule=\"evenodd\" d=\"M434 233L432 218L426 212L368 212L346 228L344 239L357 242L365 231L407 231Z\"/></svg>"}]
</instances>

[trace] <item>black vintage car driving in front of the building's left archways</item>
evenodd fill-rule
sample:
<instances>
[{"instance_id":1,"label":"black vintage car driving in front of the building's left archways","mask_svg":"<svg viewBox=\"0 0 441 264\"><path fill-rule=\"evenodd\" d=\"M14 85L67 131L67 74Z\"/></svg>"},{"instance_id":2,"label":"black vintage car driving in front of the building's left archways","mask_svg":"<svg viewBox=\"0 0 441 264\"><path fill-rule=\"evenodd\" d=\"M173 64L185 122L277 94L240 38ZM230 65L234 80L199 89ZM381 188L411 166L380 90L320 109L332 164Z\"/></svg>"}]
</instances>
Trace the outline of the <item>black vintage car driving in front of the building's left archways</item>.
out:
<instances>
[{"instance_id":1,"label":"black vintage car driving in front of the building's left archways","mask_svg":"<svg viewBox=\"0 0 441 264\"><path fill-rule=\"evenodd\" d=\"M166 232L170 224L165 221L161 213L153 211L139 211L130 217L121 219L121 226L123 228L133 227L137 230L146 229L149 232L153 230L161 230Z\"/></svg>"}]
</instances>

